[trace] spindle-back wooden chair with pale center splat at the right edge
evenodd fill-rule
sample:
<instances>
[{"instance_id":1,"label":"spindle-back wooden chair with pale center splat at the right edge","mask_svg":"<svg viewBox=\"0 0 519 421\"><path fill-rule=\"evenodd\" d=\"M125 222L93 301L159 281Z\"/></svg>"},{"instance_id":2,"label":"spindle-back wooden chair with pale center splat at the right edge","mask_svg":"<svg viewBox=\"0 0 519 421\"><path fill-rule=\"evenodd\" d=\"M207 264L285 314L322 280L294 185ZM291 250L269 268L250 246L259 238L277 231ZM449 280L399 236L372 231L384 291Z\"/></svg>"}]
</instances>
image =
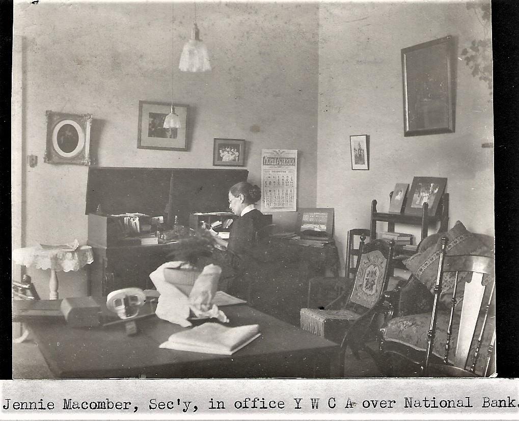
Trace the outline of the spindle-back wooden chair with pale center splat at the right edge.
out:
<instances>
[{"instance_id":1,"label":"spindle-back wooden chair with pale center splat at the right edge","mask_svg":"<svg viewBox=\"0 0 519 421\"><path fill-rule=\"evenodd\" d=\"M447 256L442 238L432 314L389 321L381 333L385 368L390 354L421 364L424 376L488 376L494 367L495 331L494 259L487 256ZM442 309L446 274L454 274L450 309ZM458 284L461 288L458 288ZM464 288L463 288L464 287ZM463 297L459 297L463 291ZM442 298L441 298L442 297ZM384 367L384 366L383 366Z\"/></svg>"}]
</instances>

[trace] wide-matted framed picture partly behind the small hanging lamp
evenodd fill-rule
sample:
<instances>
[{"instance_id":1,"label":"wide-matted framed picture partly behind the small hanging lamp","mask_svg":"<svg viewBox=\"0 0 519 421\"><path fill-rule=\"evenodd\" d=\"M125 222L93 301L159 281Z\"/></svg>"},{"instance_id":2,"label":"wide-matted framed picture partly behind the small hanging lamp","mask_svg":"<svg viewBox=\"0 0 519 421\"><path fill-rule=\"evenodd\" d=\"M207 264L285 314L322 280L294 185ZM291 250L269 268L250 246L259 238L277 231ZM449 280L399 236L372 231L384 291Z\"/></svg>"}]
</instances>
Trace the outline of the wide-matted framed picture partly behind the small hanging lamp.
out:
<instances>
[{"instance_id":1,"label":"wide-matted framed picture partly behind the small hanging lamp","mask_svg":"<svg viewBox=\"0 0 519 421\"><path fill-rule=\"evenodd\" d=\"M173 107L181 127L165 129L164 120L171 111L171 103L139 101L138 149L187 150L189 106L173 104Z\"/></svg>"}]
</instances>

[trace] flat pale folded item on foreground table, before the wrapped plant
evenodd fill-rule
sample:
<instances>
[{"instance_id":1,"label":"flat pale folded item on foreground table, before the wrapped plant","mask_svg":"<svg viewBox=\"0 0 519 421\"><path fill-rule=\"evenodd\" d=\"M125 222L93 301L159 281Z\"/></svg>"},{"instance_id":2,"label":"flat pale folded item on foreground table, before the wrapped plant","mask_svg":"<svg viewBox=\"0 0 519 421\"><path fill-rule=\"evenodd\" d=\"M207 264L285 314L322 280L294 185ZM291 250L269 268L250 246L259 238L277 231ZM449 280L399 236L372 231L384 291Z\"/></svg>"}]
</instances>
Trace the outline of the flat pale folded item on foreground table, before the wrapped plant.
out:
<instances>
[{"instance_id":1,"label":"flat pale folded item on foreground table, before the wrapped plant","mask_svg":"<svg viewBox=\"0 0 519 421\"><path fill-rule=\"evenodd\" d=\"M173 333L159 347L204 354L233 355L260 335L259 325L230 328L219 323L206 322L192 329Z\"/></svg>"}]
</instances>

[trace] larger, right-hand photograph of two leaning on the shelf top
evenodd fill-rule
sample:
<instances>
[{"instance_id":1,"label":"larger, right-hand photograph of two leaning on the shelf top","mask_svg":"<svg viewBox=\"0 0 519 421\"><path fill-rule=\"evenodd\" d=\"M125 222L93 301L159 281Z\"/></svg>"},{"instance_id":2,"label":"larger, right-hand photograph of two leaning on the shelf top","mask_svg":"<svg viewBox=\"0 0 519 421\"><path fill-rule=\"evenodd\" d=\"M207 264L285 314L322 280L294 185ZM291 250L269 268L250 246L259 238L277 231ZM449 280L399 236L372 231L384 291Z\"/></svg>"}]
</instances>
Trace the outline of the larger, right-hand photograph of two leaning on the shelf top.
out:
<instances>
[{"instance_id":1,"label":"larger, right-hand photograph of two leaning on the shelf top","mask_svg":"<svg viewBox=\"0 0 519 421\"><path fill-rule=\"evenodd\" d=\"M428 215L435 215L446 184L446 178L414 177L413 184L407 195L404 214L421 215L422 206L427 202L429 205Z\"/></svg>"}]
</instances>

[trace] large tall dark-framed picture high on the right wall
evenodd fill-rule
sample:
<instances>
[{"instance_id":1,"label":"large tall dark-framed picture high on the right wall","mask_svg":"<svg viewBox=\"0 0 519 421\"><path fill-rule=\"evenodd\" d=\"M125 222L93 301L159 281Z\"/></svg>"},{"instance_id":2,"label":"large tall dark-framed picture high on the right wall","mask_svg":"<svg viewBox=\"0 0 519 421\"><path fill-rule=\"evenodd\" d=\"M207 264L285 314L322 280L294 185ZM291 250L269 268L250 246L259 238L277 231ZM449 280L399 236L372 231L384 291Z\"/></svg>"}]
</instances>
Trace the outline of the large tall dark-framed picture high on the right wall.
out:
<instances>
[{"instance_id":1,"label":"large tall dark-framed picture high on the right wall","mask_svg":"<svg viewBox=\"0 0 519 421\"><path fill-rule=\"evenodd\" d=\"M402 49L404 136L454 133L452 36Z\"/></svg>"}]
</instances>

